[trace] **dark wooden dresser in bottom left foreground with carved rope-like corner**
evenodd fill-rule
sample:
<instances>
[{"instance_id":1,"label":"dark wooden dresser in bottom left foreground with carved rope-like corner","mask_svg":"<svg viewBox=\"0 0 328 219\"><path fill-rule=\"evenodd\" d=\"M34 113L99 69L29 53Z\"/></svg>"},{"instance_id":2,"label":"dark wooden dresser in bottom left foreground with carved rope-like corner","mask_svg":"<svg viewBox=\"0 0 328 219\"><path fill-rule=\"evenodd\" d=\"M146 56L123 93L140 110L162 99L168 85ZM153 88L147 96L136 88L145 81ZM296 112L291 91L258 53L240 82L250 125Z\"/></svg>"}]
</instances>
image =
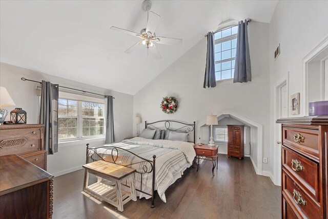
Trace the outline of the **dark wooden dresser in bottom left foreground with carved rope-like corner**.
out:
<instances>
[{"instance_id":1,"label":"dark wooden dresser in bottom left foreground with carved rope-like corner","mask_svg":"<svg viewBox=\"0 0 328 219\"><path fill-rule=\"evenodd\" d=\"M53 176L14 154L0 164L0 217L51 218Z\"/></svg>"}]
</instances>

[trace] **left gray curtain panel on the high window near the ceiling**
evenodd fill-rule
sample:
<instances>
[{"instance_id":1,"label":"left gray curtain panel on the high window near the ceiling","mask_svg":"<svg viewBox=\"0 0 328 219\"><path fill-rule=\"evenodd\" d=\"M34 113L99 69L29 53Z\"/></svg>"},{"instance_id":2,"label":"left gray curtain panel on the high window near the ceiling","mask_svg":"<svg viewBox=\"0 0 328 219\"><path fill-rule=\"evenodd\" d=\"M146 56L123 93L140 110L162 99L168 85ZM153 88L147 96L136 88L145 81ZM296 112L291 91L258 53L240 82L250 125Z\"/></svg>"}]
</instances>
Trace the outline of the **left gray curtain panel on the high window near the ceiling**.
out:
<instances>
[{"instance_id":1,"label":"left gray curtain panel on the high window near the ceiling","mask_svg":"<svg viewBox=\"0 0 328 219\"><path fill-rule=\"evenodd\" d=\"M206 69L204 76L204 86L215 87L215 61L214 61L214 34L213 32L208 32L207 34L207 55L206 55Z\"/></svg>"}]
</instances>

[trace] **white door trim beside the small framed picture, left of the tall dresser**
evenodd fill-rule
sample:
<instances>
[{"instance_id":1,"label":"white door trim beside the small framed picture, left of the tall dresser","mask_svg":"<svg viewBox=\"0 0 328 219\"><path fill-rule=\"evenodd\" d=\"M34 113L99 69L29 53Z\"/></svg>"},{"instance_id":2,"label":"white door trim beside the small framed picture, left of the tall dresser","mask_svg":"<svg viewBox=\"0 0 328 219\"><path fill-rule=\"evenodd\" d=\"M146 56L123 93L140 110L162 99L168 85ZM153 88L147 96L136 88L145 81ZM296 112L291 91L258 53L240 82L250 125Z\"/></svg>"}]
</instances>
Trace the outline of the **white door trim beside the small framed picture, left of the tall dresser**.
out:
<instances>
[{"instance_id":1,"label":"white door trim beside the small framed picture, left of the tall dresser","mask_svg":"<svg viewBox=\"0 0 328 219\"><path fill-rule=\"evenodd\" d=\"M273 97L273 101L274 101L274 104L273 104L273 118L274 118L274 121L273 121L273 141L272 141L272 144L273 144L273 157L274 157L274 162L273 162L273 183L277 186L280 186L281 185L281 175L280 175L280 171L279 169L281 169L281 159L280 159L280 155L281 154L281 151L280 151L280 148L277 147L277 139L278 139L278 136L279 134L277 133L277 127L276 127L276 121L277 121L277 109L280 109L280 103L277 103L277 94L280 95L280 89L282 86L286 85L286 90L287 90L287 96L289 97L289 72L287 72L287 74L280 78L278 80L278 82L274 85L274 97ZM288 110L288 115L289 115L289 98L287 98L287 110ZM279 105L279 107L278 107ZM279 113L280 115L280 113ZM281 141L280 141L281 142Z\"/></svg>"}]
</instances>

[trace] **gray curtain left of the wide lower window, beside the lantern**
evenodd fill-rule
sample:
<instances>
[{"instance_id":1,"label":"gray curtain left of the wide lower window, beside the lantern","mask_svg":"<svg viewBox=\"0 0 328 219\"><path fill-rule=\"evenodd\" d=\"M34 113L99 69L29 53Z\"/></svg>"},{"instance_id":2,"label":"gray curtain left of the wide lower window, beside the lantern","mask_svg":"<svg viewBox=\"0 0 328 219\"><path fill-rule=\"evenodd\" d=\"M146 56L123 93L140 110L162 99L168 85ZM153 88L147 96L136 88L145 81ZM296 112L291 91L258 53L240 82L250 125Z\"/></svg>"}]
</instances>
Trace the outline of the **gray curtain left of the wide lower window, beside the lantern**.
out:
<instances>
[{"instance_id":1,"label":"gray curtain left of the wide lower window, beside the lantern","mask_svg":"<svg viewBox=\"0 0 328 219\"><path fill-rule=\"evenodd\" d=\"M39 124L45 125L45 149L48 154L58 151L59 86L42 81Z\"/></svg>"}]
</instances>

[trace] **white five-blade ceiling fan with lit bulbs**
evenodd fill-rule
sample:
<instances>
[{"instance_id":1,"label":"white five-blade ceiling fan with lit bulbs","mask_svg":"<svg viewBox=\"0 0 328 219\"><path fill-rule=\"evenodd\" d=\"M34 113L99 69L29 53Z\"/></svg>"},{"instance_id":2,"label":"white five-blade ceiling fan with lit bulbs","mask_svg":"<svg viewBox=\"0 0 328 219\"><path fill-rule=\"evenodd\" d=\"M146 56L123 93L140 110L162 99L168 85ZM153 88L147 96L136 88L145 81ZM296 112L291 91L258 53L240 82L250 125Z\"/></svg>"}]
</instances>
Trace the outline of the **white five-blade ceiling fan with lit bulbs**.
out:
<instances>
[{"instance_id":1,"label":"white five-blade ceiling fan with lit bulbs","mask_svg":"<svg viewBox=\"0 0 328 219\"><path fill-rule=\"evenodd\" d=\"M145 0L142 3L142 9L144 9L144 11L147 11L147 27L142 29L140 33L136 33L130 30L125 30L114 26L112 26L111 29L118 30L120 32L124 32L140 38L140 41L134 44L133 46L131 46L129 49L127 49L125 53L131 53L133 50L136 49L136 47L145 45L147 48L147 55L148 55L148 51L150 51L155 56L156 59L160 59L161 55L158 49L156 48L155 44L182 45L182 39L156 36L155 30L160 16L150 11L151 6L152 3L150 0Z\"/></svg>"}]
</instances>

